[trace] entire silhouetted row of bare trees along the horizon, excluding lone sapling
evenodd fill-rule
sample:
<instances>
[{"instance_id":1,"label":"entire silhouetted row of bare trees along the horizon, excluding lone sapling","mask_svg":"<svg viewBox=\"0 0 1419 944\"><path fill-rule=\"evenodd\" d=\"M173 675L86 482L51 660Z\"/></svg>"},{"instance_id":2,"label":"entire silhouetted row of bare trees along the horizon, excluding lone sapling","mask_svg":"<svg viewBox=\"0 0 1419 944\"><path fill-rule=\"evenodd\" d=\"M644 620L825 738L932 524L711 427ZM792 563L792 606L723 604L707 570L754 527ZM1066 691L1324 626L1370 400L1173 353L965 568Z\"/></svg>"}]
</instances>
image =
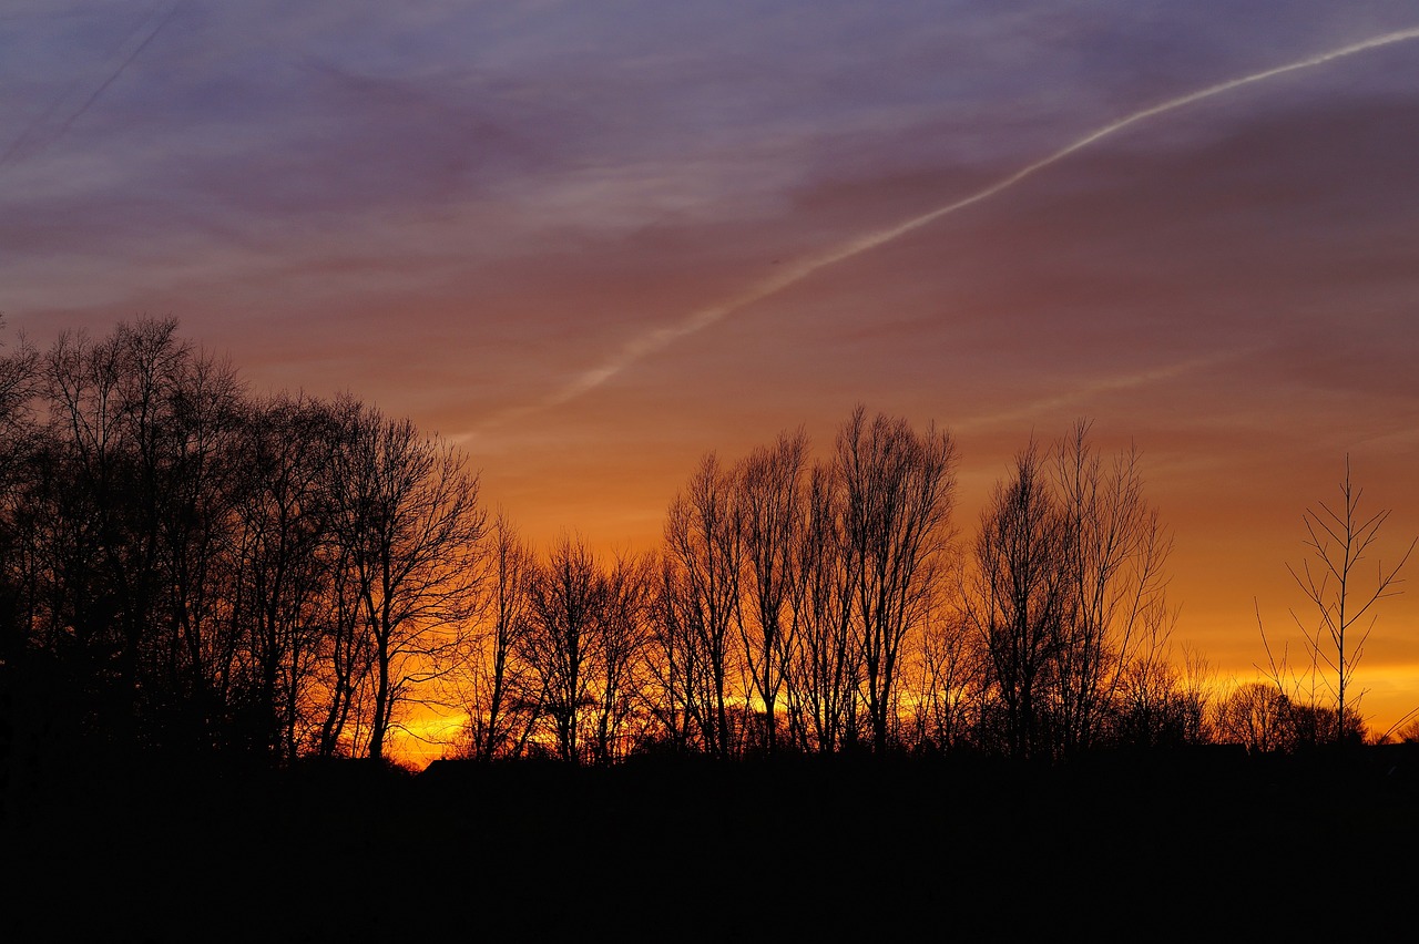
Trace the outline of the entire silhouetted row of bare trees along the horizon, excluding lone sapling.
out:
<instances>
[{"instance_id":1,"label":"entire silhouetted row of bare trees along the horizon, excluding lone sapling","mask_svg":"<svg viewBox=\"0 0 1419 944\"><path fill-rule=\"evenodd\" d=\"M1175 658L1169 530L1086 421L971 534L952 435L858 407L822 456L802 429L705 455L661 546L609 557L532 547L409 420L251 395L170 319L0 359L0 435L17 754L383 758L420 703L467 716L451 751L595 764L1277 750L1341 716Z\"/></svg>"}]
</instances>

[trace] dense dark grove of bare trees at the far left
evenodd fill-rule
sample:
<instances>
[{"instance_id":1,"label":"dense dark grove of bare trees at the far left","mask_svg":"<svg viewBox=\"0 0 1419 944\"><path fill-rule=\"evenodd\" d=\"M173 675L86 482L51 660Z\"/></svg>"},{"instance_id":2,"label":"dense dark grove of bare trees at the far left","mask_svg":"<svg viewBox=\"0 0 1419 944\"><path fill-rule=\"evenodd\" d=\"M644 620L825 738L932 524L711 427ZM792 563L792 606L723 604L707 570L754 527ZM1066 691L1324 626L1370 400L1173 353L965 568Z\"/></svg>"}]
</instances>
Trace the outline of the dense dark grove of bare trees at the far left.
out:
<instances>
[{"instance_id":1,"label":"dense dark grove of bare trees at the far left","mask_svg":"<svg viewBox=\"0 0 1419 944\"><path fill-rule=\"evenodd\" d=\"M3 661L33 740L379 757L470 614L463 456L348 397L248 397L170 320L4 370Z\"/></svg>"}]
</instances>

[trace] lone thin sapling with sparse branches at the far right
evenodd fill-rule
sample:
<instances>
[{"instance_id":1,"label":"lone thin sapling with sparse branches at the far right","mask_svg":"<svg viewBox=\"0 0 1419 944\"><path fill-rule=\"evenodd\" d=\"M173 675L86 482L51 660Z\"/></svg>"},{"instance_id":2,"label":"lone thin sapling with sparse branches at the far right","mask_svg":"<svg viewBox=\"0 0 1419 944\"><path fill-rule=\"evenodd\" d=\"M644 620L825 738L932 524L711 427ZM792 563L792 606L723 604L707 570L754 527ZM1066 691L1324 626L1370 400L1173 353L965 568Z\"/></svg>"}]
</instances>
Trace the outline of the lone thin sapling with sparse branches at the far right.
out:
<instances>
[{"instance_id":1,"label":"lone thin sapling with sparse branches at the far right","mask_svg":"<svg viewBox=\"0 0 1419 944\"><path fill-rule=\"evenodd\" d=\"M1359 510L1364 490L1351 482L1349 456L1345 458L1345 479L1340 483L1340 506L1332 509L1321 502L1318 510L1307 509L1304 523L1310 557L1301 561L1300 568L1287 564L1296 584L1314 605L1314 629L1294 611L1291 617L1305 636L1313 670L1320 673L1335 699L1337 743L1348 731L1362 730L1358 717L1351 717L1349 707L1355 668L1365 653L1365 642L1378 618L1375 604L1399 594L1399 573L1419 543L1419 539L1410 540L1398 563L1388 568L1376 558L1374 580L1361 585L1361 563L1372 553L1379 530L1389 520L1389 510L1368 516ZM1358 700L1354 699L1357 703Z\"/></svg>"}]
</instances>

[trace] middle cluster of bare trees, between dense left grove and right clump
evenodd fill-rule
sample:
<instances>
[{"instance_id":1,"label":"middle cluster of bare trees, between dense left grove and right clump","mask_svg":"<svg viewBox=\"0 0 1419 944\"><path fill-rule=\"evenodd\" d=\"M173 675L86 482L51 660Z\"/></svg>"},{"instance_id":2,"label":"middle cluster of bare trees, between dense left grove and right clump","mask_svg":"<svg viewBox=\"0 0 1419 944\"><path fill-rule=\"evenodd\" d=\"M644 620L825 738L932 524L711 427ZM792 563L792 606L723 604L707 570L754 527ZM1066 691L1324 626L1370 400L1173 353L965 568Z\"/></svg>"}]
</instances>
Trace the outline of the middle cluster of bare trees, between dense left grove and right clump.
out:
<instances>
[{"instance_id":1,"label":"middle cluster of bare trees, between dense left grove and right clump","mask_svg":"<svg viewBox=\"0 0 1419 944\"><path fill-rule=\"evenodd\" d=\"M832 458L783 434L707 455L656 554L545 560L494 526L467 748L736 757L901 741L908 639L948 563L955 446L857 410Z\"/></svg>"}]
</instances>

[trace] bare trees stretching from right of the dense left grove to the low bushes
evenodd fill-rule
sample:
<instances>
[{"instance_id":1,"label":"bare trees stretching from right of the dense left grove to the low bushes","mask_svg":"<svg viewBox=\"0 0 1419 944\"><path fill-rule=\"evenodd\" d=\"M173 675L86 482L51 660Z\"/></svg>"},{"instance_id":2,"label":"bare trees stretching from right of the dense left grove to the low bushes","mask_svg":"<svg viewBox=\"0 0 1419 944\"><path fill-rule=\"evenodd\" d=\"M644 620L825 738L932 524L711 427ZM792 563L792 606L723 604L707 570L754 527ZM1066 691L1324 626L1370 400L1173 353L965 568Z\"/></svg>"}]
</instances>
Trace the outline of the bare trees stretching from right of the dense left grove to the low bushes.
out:
<instances>
[{"instance_id":1,"label":"bare trees stretching from right of the dense left grove to the low bushes","mask_svg":"<svg viewBox=\"0 0 1419 944\"><path fill-rule=\"evenodd\" d=\"M1087 424L1027 446L955 539L955 444L858 408L829 456L802 431L707 455L661 549L538 558L499 522L470 653L467 750L1067 757L1206 736L1205 670L1171 662L1169 536L1134 452Z\"/></svg>"}]
</instances>

